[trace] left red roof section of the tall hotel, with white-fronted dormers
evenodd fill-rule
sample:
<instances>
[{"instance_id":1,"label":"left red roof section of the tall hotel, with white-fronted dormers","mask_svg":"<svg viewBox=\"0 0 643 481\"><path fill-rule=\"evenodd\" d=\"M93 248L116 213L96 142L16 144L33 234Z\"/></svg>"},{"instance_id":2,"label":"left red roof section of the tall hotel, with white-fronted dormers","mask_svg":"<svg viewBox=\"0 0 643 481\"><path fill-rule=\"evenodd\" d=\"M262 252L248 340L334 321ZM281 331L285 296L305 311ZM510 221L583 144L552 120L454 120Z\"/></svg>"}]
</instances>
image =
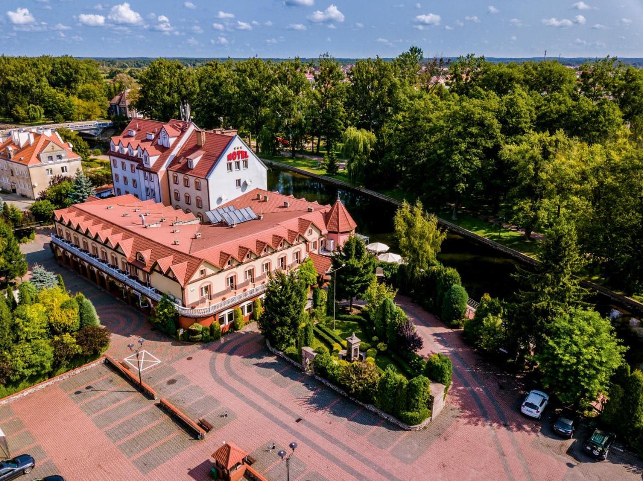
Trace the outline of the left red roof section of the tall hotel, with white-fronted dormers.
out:
<instances>
[{"instance_id":1,"label":"left red roof section of the tall hotel, with white-fronted dormers","mask_svg":"<svg viewBox=\"0 0 643 481\"><path fill-rule=\"evenodd\" d=\"M182 120L170 120L168 122L158 122L156 120L148 119L132 119L123 133L120 136L112 137L114 144L122 144L125 148L132 146L132 150L136 151L140 146L142 150L146 150L150 157L159 158L156 159L154 164L145 168L145 170L150 170L152 172L159 172L163 169L163 165L167 158L170 155L170 152L174 150L174 145L180 140L180 137L183 136L185 130L188 127L188 123ZM170 147L165 147L159 144L159 134L161 133L161 128L165 128L168 134L171 137L179 137L176 139L175 144ZM134 131L134 136L129 135L129 131ZM147 134L152 134L152 139L147 138ZM133 160L139 162L139 167L144 168L143 162L140 162L140 159L136 156L130 157L127 154L122 154L120 152L113 152L110 150L109 155L114 155L114 157L124 157L125 159Z\"/></svg>"}]
</instances>

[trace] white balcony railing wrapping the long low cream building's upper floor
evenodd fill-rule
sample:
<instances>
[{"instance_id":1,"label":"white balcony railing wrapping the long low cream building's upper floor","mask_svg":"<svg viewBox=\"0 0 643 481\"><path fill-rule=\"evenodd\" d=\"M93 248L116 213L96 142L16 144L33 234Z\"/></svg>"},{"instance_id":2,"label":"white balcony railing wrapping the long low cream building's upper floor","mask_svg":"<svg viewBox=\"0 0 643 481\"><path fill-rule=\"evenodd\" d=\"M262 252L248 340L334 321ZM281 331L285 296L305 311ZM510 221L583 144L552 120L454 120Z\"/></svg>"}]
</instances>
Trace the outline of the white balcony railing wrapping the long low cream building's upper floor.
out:
<instances>
[{"instance_id":1,"label":"white balcony railing wrapping the long low cream building's upper floor","mask_svg":"<svg viewBox=\"0 0 643 481\"><path fill-rule=\"evenodd\" d=\"M123 284L127 284L132 289L140 292L146 297L149 297L149 299L154 299L154 301L158 302L161 300L161 297L163 297L163 293L156 290L156 288L147 286L136 280L136 278L127 274L127 272L123 272L116 267L112 267L109 262L93 256L93 254L89 254L89 252L80 249L80 247L71 243L71 241L60 238L56 234L51 234L51 242L59 245L63 249L71 252L78 258L83 259L94 267L99 268L103 272L107 272L107 274L114 277L114 279L122 282ZM206 315L217 313L218 311L229 306L234 306L235 304L238 304L239 302L243 301L244 299L248 299L249 297L255 297L256 295L264 292L264 290L266 290L266 284L259 284L258 286L246 290L246 292L233 295L228 299L225 299L224 301L216 302L215 304L211 304L210 306L206 306L203 308L188 308L185 306L181 306L177 302L174 302L174 305L176 306L176 309L179 311L180 315L183 315L185 317L203 317Z\"/></svg>"}]
</instances>

